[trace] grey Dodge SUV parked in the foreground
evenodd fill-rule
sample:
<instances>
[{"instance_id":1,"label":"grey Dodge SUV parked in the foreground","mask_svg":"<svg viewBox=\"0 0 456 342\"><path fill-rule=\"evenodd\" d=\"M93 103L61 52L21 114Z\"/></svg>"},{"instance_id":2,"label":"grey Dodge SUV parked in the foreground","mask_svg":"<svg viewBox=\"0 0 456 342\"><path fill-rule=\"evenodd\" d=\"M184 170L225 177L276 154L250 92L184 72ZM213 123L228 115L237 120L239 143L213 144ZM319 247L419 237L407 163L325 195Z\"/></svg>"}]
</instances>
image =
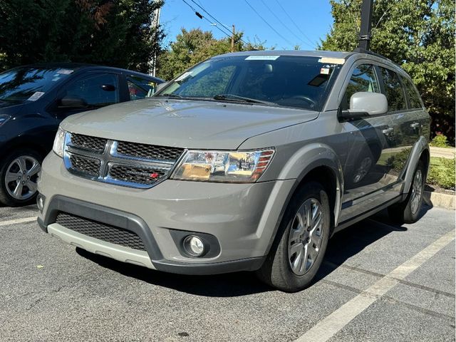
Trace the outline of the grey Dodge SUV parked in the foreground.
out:
<instances>
[{"instance_id":1,"label":"grey Dodge SUV parked in the foreground","mask_svg":"<svg viewBox=\"0 0 456 342\"><path fill-rule=\"evenodd\" d=\"M150 99L63 120L38 223L150 269L299 291L335 232L384 208L420 217L429 125L410 77L368 51L216 56Z\"/></svg>"}]
</instances>

